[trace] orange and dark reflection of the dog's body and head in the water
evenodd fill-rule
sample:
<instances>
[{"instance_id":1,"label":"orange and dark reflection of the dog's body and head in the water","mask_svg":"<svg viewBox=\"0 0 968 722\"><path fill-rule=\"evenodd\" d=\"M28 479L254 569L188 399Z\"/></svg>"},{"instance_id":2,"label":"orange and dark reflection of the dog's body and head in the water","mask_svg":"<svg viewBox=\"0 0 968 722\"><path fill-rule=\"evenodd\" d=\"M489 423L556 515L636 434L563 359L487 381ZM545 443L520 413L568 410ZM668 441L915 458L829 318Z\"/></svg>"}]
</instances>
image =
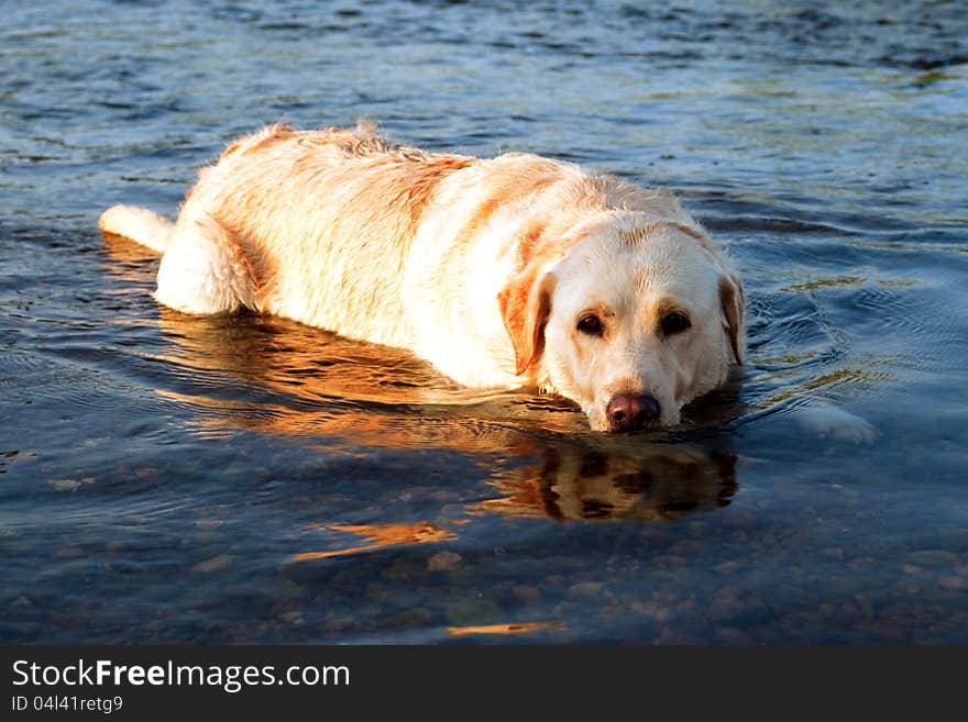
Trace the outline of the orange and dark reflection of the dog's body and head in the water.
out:
<instances>
[{"instance_id":1,"label":"orange and dark reflection of the dog's body and head in the water","mask_svg":"<svg viewBox=\"0 0 968 722\"><path fill-rule=\"evenodd\" d=\"M107 246L112 275L150 280L152 262L129 258L129 245ZM572 404L461 389L400 349L283 319L157 312L167 342L157 360L170 370L157 392L191 407L204 429L300 436L334 453L439 448L504 459L488 481L494 492L469 514L670 520L725 506L737 489L729 435L713 431L738 414L733 399L691 414L704 426L697 441L592 433Z\"/></svg>"}]
</instances>

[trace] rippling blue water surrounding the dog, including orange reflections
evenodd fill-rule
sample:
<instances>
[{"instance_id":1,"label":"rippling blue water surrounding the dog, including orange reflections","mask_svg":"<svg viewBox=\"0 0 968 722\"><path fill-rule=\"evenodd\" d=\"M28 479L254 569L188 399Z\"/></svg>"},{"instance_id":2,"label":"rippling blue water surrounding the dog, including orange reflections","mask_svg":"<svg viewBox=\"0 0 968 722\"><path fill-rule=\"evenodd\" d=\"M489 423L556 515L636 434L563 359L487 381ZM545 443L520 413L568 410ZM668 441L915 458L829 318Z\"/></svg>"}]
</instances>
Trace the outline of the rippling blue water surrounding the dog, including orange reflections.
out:
<instances>
[{"instance_id":1,"label":"rippling blue water surrounding the dog, including orange reflections","mask_svg":"<svg viewBox=\"0 0 968 722\"><path fill-rule=\"evenodd\" d=\"M518 4L8 3L0 640L968 642L965 4ZM744 273L741 382L592 434L160 308L98 235L361 116L679 191Z\"/></svg>"}]
</instances>

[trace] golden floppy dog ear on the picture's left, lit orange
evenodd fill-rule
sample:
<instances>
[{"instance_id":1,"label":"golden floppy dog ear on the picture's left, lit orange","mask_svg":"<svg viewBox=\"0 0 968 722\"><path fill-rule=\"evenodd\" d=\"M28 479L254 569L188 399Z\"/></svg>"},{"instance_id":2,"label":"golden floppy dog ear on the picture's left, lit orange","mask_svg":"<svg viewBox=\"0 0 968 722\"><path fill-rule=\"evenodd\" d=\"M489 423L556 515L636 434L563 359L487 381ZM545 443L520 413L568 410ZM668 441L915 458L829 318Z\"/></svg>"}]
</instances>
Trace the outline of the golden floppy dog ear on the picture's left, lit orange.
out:
<instances>
[{"instance_id":1,"label":"golden floppy dog ear on the picture's left, lit orange","mask_svg":"<svg viewBox=\"0 0 968 722\"><path fill-rule=\"evenodd\" d=\"M551 315L551 293L558 278L526 268L497 295L504 327L515 349L515 374L520 376L544 352L544 326Z\"/></svg>"}]
</instances>

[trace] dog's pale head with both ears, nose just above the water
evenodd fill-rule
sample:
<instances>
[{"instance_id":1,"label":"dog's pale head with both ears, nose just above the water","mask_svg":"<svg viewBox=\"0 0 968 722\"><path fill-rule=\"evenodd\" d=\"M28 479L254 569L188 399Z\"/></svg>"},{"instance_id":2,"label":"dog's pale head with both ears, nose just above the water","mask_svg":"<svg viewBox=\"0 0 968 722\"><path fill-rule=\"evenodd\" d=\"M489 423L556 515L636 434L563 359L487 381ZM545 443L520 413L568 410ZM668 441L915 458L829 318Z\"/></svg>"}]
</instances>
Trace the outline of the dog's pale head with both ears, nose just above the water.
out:
<instances>
[{"instance_id":1,"label":"dog's pale head with both ears, nose just above the water","mask_svg":"<svg viewBox=\"0 0 968 722\"><path fill-rule=\"evenodd\" d=\"M570 235L498 296L517 373L576 401L596 431L679 423L743 363L739 279L697 226L618 211Z\"/></svg>"}]
</instances>

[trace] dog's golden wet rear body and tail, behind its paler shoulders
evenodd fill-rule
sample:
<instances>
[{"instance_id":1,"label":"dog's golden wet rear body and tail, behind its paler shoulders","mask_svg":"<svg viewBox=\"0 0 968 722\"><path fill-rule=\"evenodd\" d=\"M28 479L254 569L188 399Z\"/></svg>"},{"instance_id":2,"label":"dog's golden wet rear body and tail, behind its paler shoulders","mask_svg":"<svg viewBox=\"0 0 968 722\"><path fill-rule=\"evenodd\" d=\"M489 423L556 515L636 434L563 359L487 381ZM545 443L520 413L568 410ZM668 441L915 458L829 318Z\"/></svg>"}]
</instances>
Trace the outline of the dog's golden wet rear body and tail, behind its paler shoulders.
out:
<instances>
[{"instance_id":1,"label":"dog's golden wet rear body and tail, behind its paler shoulders","mask_svg":"<svg viewBox=\"0 0 968 722\"><path fill-rule=\"evenodd\" d=\"M474 162L395 147L364 124L271 125L199 171L174 226L114 207L101 229L164 252L155 296L172 308L246 307L399 345L409 244L440 181Z\"/></svg>"}]
</instances>

